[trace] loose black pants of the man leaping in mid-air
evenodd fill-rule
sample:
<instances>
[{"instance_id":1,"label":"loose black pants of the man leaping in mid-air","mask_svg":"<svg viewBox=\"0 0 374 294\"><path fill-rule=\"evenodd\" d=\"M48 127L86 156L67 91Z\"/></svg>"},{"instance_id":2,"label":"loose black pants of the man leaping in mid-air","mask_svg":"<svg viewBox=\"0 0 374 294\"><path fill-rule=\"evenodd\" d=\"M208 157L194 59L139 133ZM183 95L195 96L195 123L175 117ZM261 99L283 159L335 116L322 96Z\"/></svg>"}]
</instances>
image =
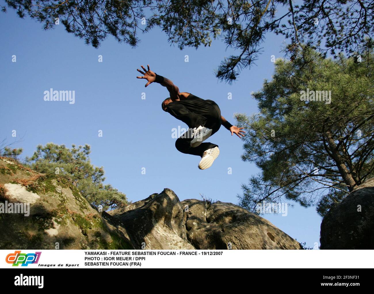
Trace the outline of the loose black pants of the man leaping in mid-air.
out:
<instances>
[{"instance_id":1,"label":"loose black pants of the man leaping in mid-air","mask_svg":"<svg viewBox=\"0 0 374 294\"><path fill-rule=\"evenodd\" d=\"M207 102L209 103L209 102ZM210 104L210 103L209 103ZM188 125L189 128L197 128L200 125L202 127L207 127L212 129L212 134L217 132L221 127L221 110L217 104L212 104L212 110L207 115L200 115L194 112L191 112L183 104L177 102L171 102L168 104L168 112L175 118L183 121ZM190 131L190 130L188 130ZM188 132L187 131L187 132ZM190 133L191 134L191 133ZM178 151L186 154L198 155L202 157L205 150L208 150L213 147L218 147L217 144L203 142L197 147L191 147L190 141L192 140L191 136L186 136L186 133L180 136L177 141L175 141L175 147Z\"/></svg>"}]
</instances>

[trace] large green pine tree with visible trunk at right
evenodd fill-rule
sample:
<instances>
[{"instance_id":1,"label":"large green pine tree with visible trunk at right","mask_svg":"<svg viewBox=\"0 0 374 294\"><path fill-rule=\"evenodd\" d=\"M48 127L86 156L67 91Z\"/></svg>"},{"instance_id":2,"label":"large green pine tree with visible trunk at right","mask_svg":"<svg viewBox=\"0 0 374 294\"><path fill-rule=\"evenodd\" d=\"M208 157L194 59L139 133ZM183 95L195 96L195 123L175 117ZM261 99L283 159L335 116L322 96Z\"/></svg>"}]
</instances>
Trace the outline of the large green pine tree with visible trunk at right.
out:
<instances>
[{"instance_id":1,"label":"large green pine tree with visible trunk at right","mask_svg":"<svg viewBox=\"0 0 374 294\"><path fill-rule=\"evenodd\" d=\"M372 51L357 62L310 48L276 60L272 81L252 94L260 112L237 114L248 130L242 159L261 170L242 185L241 206L255 212L263 200L291 199L324 215L374 176L373 60ZM313 101L313 91L331 91L331 103Z\"/></svg>"}]
</instances>

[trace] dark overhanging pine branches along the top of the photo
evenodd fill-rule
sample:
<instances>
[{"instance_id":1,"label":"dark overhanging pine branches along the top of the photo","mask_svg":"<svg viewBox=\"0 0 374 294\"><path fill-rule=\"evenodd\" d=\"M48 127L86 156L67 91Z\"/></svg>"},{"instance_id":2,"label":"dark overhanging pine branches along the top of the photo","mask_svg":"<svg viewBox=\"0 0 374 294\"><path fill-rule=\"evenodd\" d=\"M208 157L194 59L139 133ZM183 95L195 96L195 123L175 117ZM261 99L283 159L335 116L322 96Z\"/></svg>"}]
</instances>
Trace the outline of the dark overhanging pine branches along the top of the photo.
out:
<instances>
[{"instance_id":1,"label":"dark overhanging pine branches along the top of the photo","mask_svg":"<svg viewBox=\"0 0 374 294\"><path fill-rule=\"evenodd\" d=\"M239 51L221 63L217 77L232 82L253 64L267 33L283 35L293 59L306 43L327 54L358 51L365 37L373 38L371 0L6 0L19 17L29 15L45 30L62 24L68 33L97 48L107 37L136 46L138 32L157 26L171 43L210 46L221 38ZM6 7L2 6L6 11Z\"/></svg>"}]
</instances>

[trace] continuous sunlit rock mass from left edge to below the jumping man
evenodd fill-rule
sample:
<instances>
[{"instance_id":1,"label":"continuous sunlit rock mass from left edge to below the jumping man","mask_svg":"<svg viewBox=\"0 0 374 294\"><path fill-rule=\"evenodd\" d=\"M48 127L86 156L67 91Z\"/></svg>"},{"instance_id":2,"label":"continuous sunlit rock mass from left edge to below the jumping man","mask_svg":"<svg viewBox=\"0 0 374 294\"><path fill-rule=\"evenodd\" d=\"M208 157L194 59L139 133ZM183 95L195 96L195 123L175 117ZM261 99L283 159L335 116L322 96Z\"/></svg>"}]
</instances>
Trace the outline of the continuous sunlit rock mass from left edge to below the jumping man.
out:
<instances>
[{"instance_id":1,"label":"continuous sunlit rock mass from left edge to below the jumping man","mask_svg":"<svg viewBox=\"0 0 374 294\"><path fill-rule=\"evenodd\" d=\"M99 213L57 176L0 158L0 249L302 249L269 221L232 203L188 199L165 188ZM12 206L12 205L10 205Z\"/></svg>"}]
</instances>

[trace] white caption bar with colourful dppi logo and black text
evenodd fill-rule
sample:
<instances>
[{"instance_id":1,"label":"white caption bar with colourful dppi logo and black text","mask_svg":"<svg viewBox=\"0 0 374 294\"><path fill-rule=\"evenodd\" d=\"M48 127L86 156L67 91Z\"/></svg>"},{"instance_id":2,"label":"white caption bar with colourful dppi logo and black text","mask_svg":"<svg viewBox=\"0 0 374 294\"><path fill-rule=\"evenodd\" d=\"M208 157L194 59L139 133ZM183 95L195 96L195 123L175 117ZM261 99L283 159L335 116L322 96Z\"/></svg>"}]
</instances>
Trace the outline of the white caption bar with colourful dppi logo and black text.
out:
<instances>
[{"instance_id":1,"label":"white caption bar with colourful dppi logo and black text","mask_svg":"<svg viewBox=\"0 0 374 294\"><path fill-rule=\"evenodd\" d=\"M1 268L371 268L373 250L0 250Z\"/></svg>"}]
</instances>

